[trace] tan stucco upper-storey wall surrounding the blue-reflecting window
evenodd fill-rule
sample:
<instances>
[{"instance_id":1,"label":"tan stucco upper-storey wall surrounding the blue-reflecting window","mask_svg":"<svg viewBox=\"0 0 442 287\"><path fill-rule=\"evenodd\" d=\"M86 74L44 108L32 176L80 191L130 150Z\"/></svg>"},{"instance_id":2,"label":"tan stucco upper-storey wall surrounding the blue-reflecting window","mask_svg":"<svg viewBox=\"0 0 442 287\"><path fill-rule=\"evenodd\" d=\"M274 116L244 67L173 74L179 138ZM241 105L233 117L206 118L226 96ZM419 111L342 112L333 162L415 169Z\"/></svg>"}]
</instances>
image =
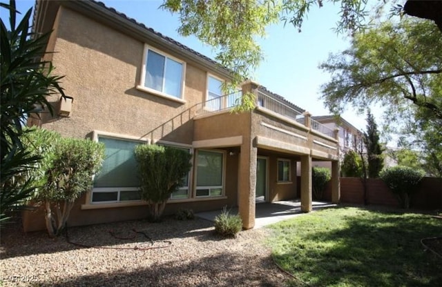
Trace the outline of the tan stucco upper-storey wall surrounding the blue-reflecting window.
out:
<instances>
[{"instance_id":1,"label":"tan stucco upper-storey wall surrounding the blue-reflecting window","mask_svg":"<svg viewBox=\"0 0 442 287\"><path fill-rule=\"evenodd\" d=\"M80 138L93 130L142 137L156 129L154 139L191 143L185 111L204 100L206 71L186 63L185 104L137 90L144 43L60 9L52 63L58 75L66 75L62 87L74 98L73 110L68 118L44 118L44 128Z\"/></svg>"}]
</instances>

